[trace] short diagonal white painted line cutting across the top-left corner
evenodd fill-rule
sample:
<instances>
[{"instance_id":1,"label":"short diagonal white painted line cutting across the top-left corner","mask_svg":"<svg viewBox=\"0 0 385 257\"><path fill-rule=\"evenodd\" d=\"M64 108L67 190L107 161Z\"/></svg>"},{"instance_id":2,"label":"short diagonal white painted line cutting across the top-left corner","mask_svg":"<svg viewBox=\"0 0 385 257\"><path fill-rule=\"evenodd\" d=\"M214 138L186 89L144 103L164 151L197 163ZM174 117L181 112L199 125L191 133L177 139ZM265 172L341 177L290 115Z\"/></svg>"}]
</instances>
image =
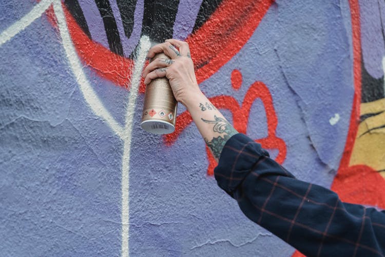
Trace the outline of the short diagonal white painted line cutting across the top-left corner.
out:
<instances>
[{"instance_id":1,"label":"short diagonal white painted line cutting across the top-left corner","mask_svg":"<svg viewBox=\"0 0 385 257\"><path fill-rule=\"evenodd\" d=\"M11 40L18 32L28 27L34 20L42 14L52 4L52 0L43 0L36 4L22 19L18 20L0 34L0 46Z\"/></svg>"}]
</instances>

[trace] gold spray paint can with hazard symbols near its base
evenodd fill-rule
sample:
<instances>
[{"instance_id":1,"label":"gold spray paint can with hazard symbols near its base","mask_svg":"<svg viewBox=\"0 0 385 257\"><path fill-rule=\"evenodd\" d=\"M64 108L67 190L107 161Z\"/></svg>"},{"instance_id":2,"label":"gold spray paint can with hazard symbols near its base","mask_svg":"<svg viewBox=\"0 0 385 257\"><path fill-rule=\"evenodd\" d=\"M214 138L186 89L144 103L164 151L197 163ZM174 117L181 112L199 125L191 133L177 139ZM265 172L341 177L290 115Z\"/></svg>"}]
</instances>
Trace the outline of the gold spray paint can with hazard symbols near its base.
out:
<instances>
[{"instance_id":1,"label":"gold spray paint can with hazard symbols near its base","mask_svg":"<svg viewBox=\"0 0 385 257\"><path fill-rule=\"evenodd\" d=\"M153 57L170 59L164 53ZM175 131L178 102L172 94L167 78L157 78L146 86L141 127L153 134L169 134Z\"/></svg>"}]
</instances>

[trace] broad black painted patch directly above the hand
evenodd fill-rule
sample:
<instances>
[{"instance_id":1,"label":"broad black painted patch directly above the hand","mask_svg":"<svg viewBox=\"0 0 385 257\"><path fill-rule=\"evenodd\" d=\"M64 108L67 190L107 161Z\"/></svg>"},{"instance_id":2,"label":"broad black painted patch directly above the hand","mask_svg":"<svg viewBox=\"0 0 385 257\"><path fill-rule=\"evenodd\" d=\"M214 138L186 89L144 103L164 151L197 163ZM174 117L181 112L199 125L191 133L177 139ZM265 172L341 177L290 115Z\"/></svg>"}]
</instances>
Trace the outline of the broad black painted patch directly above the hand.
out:
<instances>
[{"instance_id":1,"label":"broad black painted patch directly above the hand","mask_svg":"<svg viewBox=\"0 0 385 257\"><path fill-rule=\"evenodd\" d=\"M179 0L145 0L142 34L155 42L172 38L178 5Z\"/></svg>"}]
</instances>

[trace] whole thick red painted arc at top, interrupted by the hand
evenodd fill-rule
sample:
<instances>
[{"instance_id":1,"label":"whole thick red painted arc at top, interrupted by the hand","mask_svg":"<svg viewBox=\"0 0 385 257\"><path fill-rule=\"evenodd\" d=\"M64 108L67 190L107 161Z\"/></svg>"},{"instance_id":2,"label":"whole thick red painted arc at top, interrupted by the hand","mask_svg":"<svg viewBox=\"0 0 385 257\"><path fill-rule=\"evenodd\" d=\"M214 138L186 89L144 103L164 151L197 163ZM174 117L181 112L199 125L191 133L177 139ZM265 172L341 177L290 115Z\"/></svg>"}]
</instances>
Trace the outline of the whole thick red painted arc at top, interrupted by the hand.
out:
<instances>
[{"instance_id":1,"label":"whole thick red painted arc at top, interrupted by the hand","mask_svg":"<svg viewBox=\"0 0 385 257\"><path fill-rule=\"evenodd\" d=\"M215 74L243 47L274 0L224 0L201 28L188 36L198 83ZM133 61L92 41L63 4L69 32L81 60L114 84L129 85ZM56 23L52 22L55 26ZM140 92L144 93L141 83Z\"/></svg>"}]
</instances>

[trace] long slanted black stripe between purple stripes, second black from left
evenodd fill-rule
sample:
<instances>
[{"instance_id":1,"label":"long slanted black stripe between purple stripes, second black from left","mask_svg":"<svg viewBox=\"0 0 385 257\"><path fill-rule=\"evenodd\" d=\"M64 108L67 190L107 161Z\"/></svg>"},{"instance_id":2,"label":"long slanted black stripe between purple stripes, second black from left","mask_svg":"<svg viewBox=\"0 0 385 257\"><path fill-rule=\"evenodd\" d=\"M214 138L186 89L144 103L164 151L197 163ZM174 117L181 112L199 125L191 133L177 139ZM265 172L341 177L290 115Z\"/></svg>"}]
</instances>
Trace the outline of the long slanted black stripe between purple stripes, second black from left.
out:
<instances>
[{"instance_id":1,"label":"long slanted black stripe between purple stripes, second black from left","mask_svg":"<svg viewBox=\"0 0 385 257\"><path fill-rule=\"evenodd\" d=\"M117 23L115 22L110 3L108 0L95 0L95 4L98 6L100 15L103 19L110 50L123 56L122 42L120 40Z\"/></svg>"}]
</instances>

